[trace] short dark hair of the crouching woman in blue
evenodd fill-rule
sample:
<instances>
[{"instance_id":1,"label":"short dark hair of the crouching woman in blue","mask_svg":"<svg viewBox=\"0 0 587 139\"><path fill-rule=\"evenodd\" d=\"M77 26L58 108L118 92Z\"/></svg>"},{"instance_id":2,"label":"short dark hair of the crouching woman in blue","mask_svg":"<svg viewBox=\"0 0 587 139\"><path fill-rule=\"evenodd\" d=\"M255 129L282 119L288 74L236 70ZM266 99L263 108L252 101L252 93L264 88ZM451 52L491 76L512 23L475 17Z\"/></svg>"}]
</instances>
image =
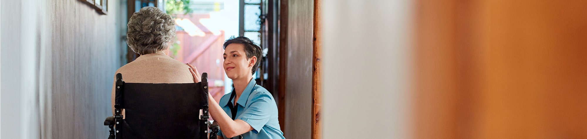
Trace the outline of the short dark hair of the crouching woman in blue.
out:
<instances>
[{"instance_id":1,"label":"short dark hair of the crouching woman in blue","mask_svg":"<svg viewBox=\"0 0 587 139\"><path fill-rule=\"evenodd\" d=\"M255 44L251 39L248 39L247 37L244 36L238 36L238 37L230 37L230 39L224 41L224 48L226 50L226 47L229 44L232 43L237 43L237 44L242 44L243 46L245 46L245 55L247 56L247 60L252 58L253 56L257 57L257 61L255 62L255 65L253 65L253 69L252 69L252 74L255 74L255 72L257 72L257 67L259 67L259 63L261 63L261 47L259 47L257 44Z\"/></svg>"}]
</instances>

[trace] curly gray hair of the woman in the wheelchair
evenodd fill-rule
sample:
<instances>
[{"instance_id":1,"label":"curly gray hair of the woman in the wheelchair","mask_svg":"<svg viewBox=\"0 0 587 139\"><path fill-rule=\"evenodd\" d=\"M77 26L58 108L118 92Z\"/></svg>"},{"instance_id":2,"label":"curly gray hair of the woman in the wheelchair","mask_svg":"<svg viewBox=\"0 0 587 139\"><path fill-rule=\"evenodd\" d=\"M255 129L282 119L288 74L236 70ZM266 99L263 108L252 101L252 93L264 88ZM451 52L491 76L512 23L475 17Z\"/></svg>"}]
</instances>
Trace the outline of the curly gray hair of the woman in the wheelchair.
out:
<instances>
[{"instance_id":1,"label":"curly gray hair of the woman in the wheelchair","mask_svg":"<svg viewBox=\"0 0 587 139\"><path fill-rule=\"evenodd\" d=\"M126 33L127 44L134 53L152 54L166 50L176 36L176 22L158 8L144 7L133 13Z\"/></svg>"}]
</instances>

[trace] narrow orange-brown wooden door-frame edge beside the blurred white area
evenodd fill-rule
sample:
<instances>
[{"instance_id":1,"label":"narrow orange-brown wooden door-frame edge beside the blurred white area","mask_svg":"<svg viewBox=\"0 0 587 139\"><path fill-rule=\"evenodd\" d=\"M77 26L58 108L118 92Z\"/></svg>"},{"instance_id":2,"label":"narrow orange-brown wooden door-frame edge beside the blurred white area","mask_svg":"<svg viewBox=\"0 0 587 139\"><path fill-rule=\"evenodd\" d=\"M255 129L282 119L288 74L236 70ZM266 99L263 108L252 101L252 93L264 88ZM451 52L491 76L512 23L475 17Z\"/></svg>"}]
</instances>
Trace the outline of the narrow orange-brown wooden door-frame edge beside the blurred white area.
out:
<instances>
[{"instance_id":1,"label":"narrow orange-brown wooden door-frame edge beside the blurred white area","mask_svg":"<svg viewBox=\"0 0 587 139\"><path fill-rule=\"evenodd\" d=\"M322 26L321 0L314 0L313 74L312 74L312 138L322 138Z\"/></svg>"}]
</instances>

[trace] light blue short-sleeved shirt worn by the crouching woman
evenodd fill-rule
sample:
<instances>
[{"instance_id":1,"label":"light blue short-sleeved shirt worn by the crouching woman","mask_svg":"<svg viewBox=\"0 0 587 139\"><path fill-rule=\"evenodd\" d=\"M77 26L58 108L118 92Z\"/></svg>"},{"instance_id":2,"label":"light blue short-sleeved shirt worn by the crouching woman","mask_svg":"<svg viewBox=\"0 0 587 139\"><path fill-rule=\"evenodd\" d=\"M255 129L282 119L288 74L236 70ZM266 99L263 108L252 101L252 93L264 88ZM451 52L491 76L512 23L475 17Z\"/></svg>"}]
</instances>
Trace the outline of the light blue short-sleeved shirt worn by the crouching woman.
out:
<instances>
[{"instance_id":1,"label":"light blue short-sleeved shirt worn by the crouching woman","mask_svg":"<svg viewBox=\"0 0 587 139\"><path fill-rule=\"evenodd\" d=\"M235 93L234 89L231 93ZM232 112L228 106L228 100L230 99L231 93L222 96L220 99L220 106L224 112L232 118ZM231 104L234 104L234 99L232 99ZM267 89L257 85L257 82L254 79L251 79L247 88L245 88L240 98L238 98L237 107L237 118L235 119L241 119L253 127L253 130L242 134L242 138L285 139L284 133L281 132L281 128L279 128L275 99ZM228 138L222 134L222 127L220 127L218 135Z\"/></svg>"}]
</instances>

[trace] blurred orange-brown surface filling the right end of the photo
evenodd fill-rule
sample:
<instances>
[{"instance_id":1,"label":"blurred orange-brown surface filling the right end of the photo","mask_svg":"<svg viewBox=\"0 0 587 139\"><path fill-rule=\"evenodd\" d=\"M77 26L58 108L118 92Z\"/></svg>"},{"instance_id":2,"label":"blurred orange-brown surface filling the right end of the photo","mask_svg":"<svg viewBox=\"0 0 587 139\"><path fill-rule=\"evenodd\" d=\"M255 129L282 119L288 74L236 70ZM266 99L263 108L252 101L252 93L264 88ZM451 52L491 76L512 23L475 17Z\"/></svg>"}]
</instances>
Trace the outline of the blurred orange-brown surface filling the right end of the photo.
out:
<instances>
[{"instance_id":1,"label":"blurred orange-brown surface filling the right end of the photo","mask_svg":"<svg viewBox=\"0 0 587 139\"><path fill-rule=\"evenodd\" d=\"M420 0L416 138L587 138L587 1Z\"/></svg>"}]
</instances>

